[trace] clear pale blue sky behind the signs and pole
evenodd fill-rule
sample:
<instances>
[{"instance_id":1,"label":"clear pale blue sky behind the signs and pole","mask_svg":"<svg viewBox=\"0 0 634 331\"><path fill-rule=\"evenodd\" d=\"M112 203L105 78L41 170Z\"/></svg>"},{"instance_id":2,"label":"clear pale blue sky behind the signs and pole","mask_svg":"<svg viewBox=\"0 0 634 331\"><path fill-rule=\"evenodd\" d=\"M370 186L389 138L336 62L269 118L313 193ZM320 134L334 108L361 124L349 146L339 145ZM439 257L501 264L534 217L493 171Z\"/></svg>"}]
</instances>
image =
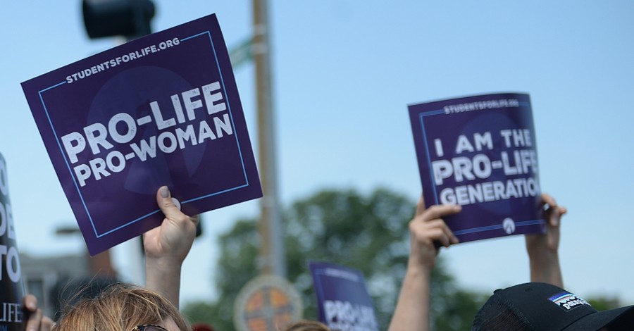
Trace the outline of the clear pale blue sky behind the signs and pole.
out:
<instances>
[{"instance_id":1,"label":"clear pale blue sky behind the signs and pole","mask_svg":"<svg viewBox=\"0 0 634 331\"><path fill-rule=\"evenodd\" d=\"M250 1L155 0L155 31L216 13L231 48L251 32ZM540 181L568 207L566 288L634 304L634 3L615 1L271 1L278 181L282 204L322 188L421 192L407 105L491 92L530 94ZM8 163L20 251L84 249L56 237L73 213L20 82L116 46L92 41L80 1L11 1L0 13L0 153ZM254 70L237 68L251 140ZM185 262L182 301L213 296L216 235L256 201L204 215ZM442 252L461 285L490 292L528 281L523 238ZM124 277L126 245L114 254Z\"/></svg>"}]
</instances>

